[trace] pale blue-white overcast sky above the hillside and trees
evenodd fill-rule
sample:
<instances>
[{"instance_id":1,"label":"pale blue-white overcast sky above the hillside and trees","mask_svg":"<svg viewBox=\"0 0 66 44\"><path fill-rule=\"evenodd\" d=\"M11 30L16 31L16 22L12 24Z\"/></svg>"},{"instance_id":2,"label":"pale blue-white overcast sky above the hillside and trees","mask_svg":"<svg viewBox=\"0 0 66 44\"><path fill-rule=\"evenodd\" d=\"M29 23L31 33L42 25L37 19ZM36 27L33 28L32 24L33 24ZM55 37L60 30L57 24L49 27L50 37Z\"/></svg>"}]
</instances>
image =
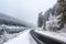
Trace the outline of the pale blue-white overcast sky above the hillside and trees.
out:
<instances>
[{"instance_id":1,"label":"pale blue-white overcast sky above the hillside and trees","mask_svg":"<svg viewBox=\"0 0 66 44\"><path fill-rule=\"evenodd\" d=\"M0 12L36 24L38 12L45 12L56 0L0 0Z\"/></svg>"}]
</instances>

